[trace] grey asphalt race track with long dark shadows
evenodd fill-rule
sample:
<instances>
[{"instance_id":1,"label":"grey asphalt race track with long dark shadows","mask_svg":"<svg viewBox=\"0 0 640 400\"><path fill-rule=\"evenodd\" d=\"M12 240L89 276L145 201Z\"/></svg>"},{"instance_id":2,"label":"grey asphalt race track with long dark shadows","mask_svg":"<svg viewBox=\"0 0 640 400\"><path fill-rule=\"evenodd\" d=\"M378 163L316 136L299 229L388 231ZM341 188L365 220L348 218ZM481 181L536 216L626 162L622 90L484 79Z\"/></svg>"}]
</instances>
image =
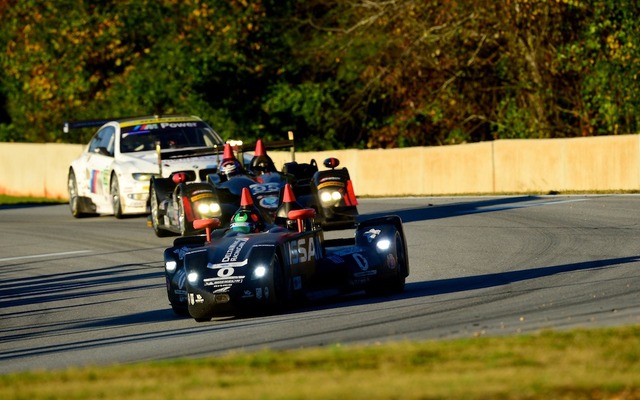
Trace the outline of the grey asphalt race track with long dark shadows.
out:
<instances>
[{"instance_id":1,"label":"grey asphalt race track with long dark shadows","mask_svg":"<svg viewBox=\"0 0 640 400\"><path fill-rule=\"evenodd\" d=\"M197 323L166 298L146 218L0 208L0 373L640 322L640 196L361 199L405 223L411 275L387 298Z\"/></svg>"}]
</instances>

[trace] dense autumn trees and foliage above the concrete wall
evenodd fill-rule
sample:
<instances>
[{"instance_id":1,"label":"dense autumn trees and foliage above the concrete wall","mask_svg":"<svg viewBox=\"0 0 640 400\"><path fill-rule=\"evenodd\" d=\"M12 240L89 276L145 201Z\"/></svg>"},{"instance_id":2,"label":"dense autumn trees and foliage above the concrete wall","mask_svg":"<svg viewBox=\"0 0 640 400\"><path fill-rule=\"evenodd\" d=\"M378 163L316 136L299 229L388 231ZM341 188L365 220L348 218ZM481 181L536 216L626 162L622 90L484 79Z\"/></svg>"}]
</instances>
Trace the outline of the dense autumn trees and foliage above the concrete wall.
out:
<instances>
[{"instance_id":1,"label":"dense autumn trees and foliage above the concrete wall","mask_svg":"<svg viewBox=\"0 0 640 400\"><path fill-rule=\"evenodd\" d=\"M638 132L635 0L0 0L0 141L191 113L302 149Z\"/></svg>"}]
</instances>

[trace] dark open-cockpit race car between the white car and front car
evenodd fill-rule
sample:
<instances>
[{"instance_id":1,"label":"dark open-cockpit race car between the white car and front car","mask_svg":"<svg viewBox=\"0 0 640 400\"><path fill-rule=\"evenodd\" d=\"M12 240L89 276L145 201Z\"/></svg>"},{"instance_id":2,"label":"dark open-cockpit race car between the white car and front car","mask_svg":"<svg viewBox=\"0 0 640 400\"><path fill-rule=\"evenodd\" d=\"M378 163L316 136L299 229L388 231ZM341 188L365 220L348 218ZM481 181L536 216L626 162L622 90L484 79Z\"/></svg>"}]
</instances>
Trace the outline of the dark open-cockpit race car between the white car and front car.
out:
<instances>
[{"instance_id":1,"label":"dark open-cockpit race car between the white car and front car","mask_svg":"<svg viewBox=\"0 0 640 400\"><path fill-rule=\"evenodd\" d=\"M328 170L319 171L315 160L298 164L285 163L282 171L267 155L266 148L292 147L293 141L265 145L258 140L255 151L245 168L229 144L217 173L208 174L206 181L196 181L195 175L176 173L169 178L153 177L150 185L150 225L157 236L181 236L201 232L193 222L201 218L219 218L227 226L240 204L244 188L249 188L256 204L269 222L285 184L293 186L299 203L316 210L317 224L323 229L353 227L358 215L353 184L346 168L337 169L336 158L325 160Z\"/></svg>"}]
</instances>

